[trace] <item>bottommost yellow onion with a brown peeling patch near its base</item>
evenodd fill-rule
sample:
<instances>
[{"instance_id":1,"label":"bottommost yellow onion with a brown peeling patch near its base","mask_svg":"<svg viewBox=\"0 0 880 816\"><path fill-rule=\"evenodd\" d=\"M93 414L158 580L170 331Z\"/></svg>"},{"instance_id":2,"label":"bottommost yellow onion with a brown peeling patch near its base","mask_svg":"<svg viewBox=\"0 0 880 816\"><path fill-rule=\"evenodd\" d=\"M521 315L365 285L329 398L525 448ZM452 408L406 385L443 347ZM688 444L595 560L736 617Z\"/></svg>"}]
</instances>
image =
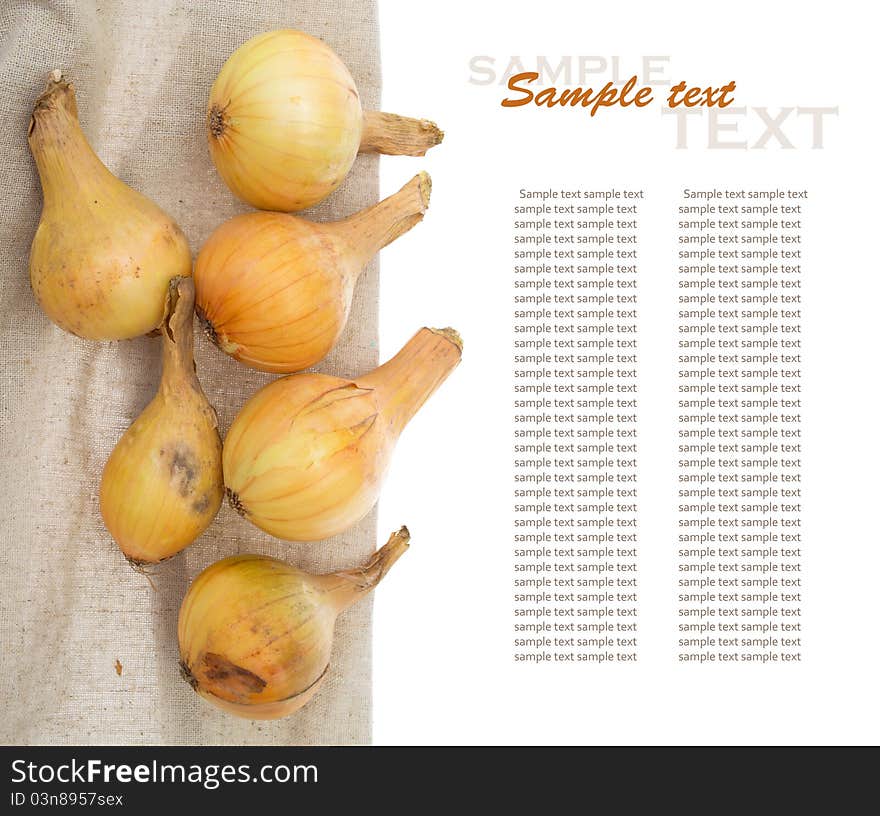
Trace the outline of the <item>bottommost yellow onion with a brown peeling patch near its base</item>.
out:
<instances>
[{"instance_id":1,"label":"bottommost yellow onion with a brown peeling patch near its base","mask_svg":"<svg viewBox=\"0 0 880 816\"><path fill-rule=\"evenodd\" d=\"M177 622L180 667L218 708L251 720L286 717L330 668L340 612L369 593L409 546L401 527L358 569L312 575L259 555L234 555L196 577Z\"/></svg>"}]
</instances>

